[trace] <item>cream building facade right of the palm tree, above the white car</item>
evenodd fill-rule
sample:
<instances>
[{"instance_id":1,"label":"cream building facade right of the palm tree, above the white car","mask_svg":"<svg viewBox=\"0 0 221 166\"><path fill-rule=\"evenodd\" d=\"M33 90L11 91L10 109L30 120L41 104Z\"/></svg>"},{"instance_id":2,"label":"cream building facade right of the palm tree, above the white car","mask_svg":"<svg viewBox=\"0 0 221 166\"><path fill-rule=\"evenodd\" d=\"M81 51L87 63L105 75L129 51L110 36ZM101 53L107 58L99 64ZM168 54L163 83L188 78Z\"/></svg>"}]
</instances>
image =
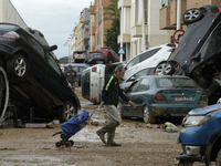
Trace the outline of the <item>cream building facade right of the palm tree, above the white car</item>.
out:
<instances>
[{"instance_id":1,"label":"cream building facade right of the palm tree, above the white car","mask_svg":"<svg viewBox=\"0 0 221 166\"><path fill-rule=\"evenodd\" d=\"M122 41L126 45L127 61L143 51L143 15L145 15L146 49L171 42L169 32L159 29L160 0L118 0L118 8L122 11L123 33L123 38L118 37L118 43Z\"/></svg>"}]
</instances>

